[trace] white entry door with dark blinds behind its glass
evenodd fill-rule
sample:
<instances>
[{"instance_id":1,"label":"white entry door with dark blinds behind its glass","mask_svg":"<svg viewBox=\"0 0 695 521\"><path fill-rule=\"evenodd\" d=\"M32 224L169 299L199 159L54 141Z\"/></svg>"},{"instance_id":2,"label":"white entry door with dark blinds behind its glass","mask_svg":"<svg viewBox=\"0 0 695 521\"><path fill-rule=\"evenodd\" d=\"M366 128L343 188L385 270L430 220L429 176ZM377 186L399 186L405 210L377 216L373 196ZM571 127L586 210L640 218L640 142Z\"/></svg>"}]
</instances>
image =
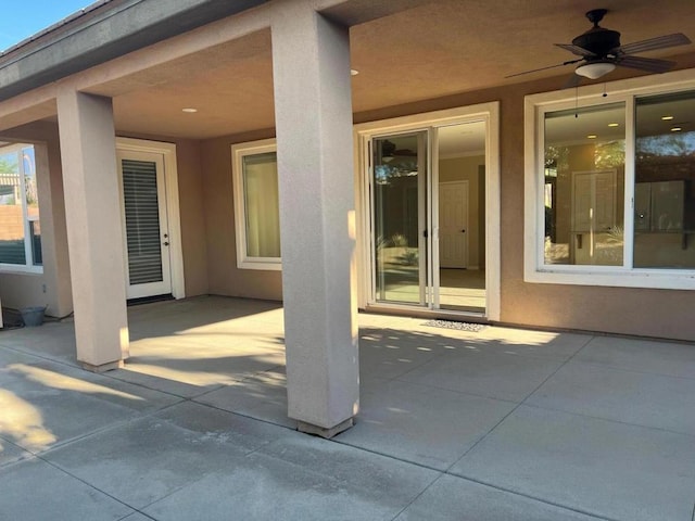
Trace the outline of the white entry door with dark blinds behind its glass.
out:
<instances>
[{"instance_id":1,"label":"white entry door with dark blinds behind its glass","mask_svg":"<svg viewBox=\"0 0 695 521\"><path fill-rule=\"evenodd\" d=\"M162 154L117 151L121 181L126 295L172 293L166 185Z\"/></svg>"}]
</instances>

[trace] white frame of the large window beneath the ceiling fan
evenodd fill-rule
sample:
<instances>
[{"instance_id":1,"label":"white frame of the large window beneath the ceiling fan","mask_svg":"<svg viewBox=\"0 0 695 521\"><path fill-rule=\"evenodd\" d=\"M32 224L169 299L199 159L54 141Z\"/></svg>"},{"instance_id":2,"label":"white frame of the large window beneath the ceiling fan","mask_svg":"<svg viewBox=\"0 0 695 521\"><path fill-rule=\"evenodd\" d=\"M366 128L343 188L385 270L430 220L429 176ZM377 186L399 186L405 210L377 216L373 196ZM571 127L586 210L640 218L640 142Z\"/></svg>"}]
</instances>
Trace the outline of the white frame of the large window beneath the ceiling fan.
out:
<instances>
[{"instance_id":1,"label":"white frame of the large window beneath the ceiling fan","mask_svg":"<svg viewBox=\"0 0 695 521\"><path fill-rule=\"evenodd\" d=\"M642 96L695 90L695 69L679 71L660 76L590 85L526 97L525 103L525 269L523 280L534 283L654 288L673 290L695 289L695 269L662 269L632 267L634 224L634 104ZM607 93L607 96L606 96ZM548 112L602 104L626 103L626 165L624 165L624 256L623 266L546 265L543 249L545 214L544 122Z\"/></svg>"}]
</instances>

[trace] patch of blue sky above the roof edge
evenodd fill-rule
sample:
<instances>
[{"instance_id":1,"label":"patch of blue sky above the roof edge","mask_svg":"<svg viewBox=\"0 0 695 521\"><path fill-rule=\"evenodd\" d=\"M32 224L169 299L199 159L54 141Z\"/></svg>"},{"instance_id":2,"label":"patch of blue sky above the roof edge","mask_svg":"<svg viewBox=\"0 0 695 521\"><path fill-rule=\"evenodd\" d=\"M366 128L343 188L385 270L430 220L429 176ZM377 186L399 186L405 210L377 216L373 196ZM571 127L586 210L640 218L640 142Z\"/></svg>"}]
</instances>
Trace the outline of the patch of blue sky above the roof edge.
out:
<instances>
[{"instance_id":1,"label":"patch of blue sky above the roof edge","mask_svg":"<svg viewBox=\"0 0 695 521\"><path fill-rule=\"evenodd\" d=\"M0 50L5 50L96 0L0 0Z\"/></svg>"}]
</instances>

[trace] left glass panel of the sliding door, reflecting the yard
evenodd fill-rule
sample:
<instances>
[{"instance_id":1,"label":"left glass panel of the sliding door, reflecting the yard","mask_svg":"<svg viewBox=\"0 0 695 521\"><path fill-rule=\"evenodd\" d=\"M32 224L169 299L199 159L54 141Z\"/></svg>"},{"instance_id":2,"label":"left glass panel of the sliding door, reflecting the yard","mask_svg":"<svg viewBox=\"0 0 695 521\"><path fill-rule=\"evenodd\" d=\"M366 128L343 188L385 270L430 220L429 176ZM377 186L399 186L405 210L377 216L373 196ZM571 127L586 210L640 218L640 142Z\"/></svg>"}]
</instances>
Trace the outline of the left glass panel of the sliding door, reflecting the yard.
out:
<instances>
[{"instance_id":1,"label":"left glass panel of the sliding door, reflecting the yard","mask_svg":"<svg viewBox=\"0 0 695 521\"><path fill-rule=\"evenodd\" d=\"M426 305L427 131L372 140L377 302Z\"/></svg>"}]
</instances>

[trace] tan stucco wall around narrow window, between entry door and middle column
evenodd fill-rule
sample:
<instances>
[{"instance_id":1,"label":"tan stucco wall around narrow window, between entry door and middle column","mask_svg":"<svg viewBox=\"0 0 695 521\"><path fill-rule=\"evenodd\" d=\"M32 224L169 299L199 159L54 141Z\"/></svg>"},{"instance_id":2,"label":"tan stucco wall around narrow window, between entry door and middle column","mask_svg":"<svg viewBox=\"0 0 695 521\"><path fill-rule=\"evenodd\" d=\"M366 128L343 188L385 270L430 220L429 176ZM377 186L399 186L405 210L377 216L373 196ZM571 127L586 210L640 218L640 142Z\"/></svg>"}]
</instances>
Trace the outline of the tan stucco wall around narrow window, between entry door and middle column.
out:
<instances>
[{"instance_id":1,"label":"tan stucco wall around narrow window, between entry door and middle column","mask_svg":"<svg viewBox=\"0 0 695 521\"><path fill-rule=\"evenodd\" d=\"M210 293L279 301L280 271L237 267L231 145L273 137L271 131L203 141L202 171Z\"/></svg>"}]
</instances>

